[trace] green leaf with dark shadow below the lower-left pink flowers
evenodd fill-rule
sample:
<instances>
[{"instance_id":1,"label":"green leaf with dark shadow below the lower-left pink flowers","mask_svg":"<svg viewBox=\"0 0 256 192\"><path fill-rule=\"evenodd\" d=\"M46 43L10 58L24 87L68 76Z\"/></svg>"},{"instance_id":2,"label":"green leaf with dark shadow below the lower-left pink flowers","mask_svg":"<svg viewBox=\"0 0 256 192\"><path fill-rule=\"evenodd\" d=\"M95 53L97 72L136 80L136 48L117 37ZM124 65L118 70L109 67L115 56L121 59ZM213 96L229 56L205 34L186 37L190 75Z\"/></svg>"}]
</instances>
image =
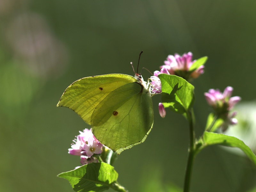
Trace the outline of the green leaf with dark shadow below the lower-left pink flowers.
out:
<instances>
[{"instance_id":1,"label":"green leaf with dark shadow below the lower-left pink flowers","mask_svg":"<svg viewBox=\"0 0 256 192\"><path fill-rule=\"evenodd\" d=\"M117 180L118 174L107 163L90 163L73 171L60 173L58 177L67 179L74 191L96 192L107 190Z\"/></svg>"}]
</instances>

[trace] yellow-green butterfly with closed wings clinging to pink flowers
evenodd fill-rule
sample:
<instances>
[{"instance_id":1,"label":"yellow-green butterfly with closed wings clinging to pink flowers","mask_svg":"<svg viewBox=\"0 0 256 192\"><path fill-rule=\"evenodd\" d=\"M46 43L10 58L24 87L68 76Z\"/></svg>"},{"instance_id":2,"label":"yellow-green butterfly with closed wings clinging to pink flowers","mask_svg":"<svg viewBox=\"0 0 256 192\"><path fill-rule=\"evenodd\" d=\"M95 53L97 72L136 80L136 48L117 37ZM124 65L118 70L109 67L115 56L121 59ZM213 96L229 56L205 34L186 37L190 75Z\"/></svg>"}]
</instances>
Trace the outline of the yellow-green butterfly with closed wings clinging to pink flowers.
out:
<instances>
[{"instance_id":1,"label":"yellow-green butterfly with closed wings clinging to pink flowers","mask_svg":"<svg viewBox=\"0 0 256 192\"><path fill-rule=\"evenodd\" d=\"M62 94L60 106L75 111L93 135L118 154L142 143L154 122L150 86L138 73L79 79Z\"/></svg>"}]
</instances>

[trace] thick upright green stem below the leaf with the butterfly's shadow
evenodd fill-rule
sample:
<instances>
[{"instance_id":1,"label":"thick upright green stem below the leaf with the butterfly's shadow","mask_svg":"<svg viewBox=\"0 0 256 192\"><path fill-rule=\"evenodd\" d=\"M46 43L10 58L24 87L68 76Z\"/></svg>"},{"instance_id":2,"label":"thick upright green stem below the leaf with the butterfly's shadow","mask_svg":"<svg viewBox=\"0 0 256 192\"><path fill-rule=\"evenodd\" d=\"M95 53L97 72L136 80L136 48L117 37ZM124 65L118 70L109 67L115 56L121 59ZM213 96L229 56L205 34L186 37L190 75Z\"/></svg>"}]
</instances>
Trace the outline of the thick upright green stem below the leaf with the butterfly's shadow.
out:
<instances>
[{"instance_id":1,"label":"thick upright green stem below the leaf with the butterfly's shadow","mask_svg":"<svg viewBox=\"0 0 256 192\"><path fill-rule=\"evenodd\" d=\"M192 109L188 111L187 117L188 117L188 123L189 123L189 148L188 148L188 162L186 167L183 192L189 192L193 162L195 157L195 153L194 153L195 152L194 151L195 132L194 132Z\"/></svg>"}]
</instances>

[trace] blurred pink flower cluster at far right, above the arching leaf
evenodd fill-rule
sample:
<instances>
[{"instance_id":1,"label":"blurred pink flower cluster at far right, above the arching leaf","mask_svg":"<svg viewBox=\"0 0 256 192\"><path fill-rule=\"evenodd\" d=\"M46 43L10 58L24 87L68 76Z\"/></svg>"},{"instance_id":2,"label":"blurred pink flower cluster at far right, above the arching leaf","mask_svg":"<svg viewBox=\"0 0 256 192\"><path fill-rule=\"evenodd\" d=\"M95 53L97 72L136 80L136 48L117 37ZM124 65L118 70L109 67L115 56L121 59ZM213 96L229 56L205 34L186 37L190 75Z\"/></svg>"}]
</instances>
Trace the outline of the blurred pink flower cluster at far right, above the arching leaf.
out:
<instances>
[{"instance_id":1,"label":"blurred pink flower cluster at far right, above the arching leaf","mask_svg":"<svg viewBox=\"0 0 256 192\"><path fill-rule=\"evenodd\" d=\"M228 86L223 93L219 89L210 89L204 93L206 101L212 106L215 113L224 118L224 123L221 125L222 131L226 131L230 124L237 124L237 119L234 118L237 112L229 114L229 111L241 100L241 97L231 97L232 92L233 87Z\"/></svg>"}]
</instances>

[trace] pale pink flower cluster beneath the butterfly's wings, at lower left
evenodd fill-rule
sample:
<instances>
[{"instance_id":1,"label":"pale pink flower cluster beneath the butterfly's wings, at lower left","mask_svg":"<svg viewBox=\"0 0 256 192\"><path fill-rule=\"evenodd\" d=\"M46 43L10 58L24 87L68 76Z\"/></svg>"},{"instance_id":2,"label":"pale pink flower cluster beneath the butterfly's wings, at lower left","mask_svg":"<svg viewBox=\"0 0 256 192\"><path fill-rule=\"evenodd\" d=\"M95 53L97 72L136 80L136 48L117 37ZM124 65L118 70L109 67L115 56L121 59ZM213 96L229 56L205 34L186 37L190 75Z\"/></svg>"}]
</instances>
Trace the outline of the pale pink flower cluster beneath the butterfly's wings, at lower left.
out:
<instances>
[{"instance_id":1,"label":"pale pink flower cluster beneath the butterfly's wings, at lower left","mask_svg":"<svg viewBox=\"0 0 256 192\"><path fill-rule=\"evenodd\" d=\"M92 129L84 129L83 132L79 131L80 134L73 140L71 148L68 149L70 155L81 156L81 164L88 164L98 161L93 154L100 154L102 152L102 144L92 134Z\"/></svg>"}]
</instances>

